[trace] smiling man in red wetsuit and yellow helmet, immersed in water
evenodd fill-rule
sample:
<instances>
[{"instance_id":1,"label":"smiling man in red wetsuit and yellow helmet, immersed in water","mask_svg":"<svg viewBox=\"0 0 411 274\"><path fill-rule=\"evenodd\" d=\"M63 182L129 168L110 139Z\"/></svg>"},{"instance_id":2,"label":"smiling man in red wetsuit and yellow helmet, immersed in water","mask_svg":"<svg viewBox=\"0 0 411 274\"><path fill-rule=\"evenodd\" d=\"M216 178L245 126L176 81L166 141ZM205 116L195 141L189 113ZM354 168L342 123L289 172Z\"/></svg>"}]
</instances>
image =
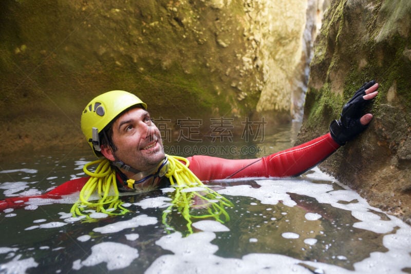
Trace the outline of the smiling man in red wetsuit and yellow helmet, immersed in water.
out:
<instances>
[{"instance_id":1,"label":"smiling man in red wetsuit and yellow helmet, immersed in water","mask_svg":"<svg viewBox=\"0 0 411 274\"><path fill-rule=\"evenodd\" d=\"M230 160L202 155L183 159L166 155L160 132L147 112L147 105L137 96L121 90L114 90L91 100L83 111L81 127L96 156L103 156L110 163L108 175L103 181L111 176L114 187L120 191L143 192L169 185L170 181L173 182L173 176L179 178L175 167L170 171L170 163L175 166L179 161L185 162L185 167L189 169L184 171L184 176L191 174L200 181L296 176L324 160L366 128L372 114L363 115L364 107L377 96L378 87L377 83L371 81L357 90L344 106L341 118L331 123L329 133L258 159ZM101 170L99 172L104 173ZM97 173L87 174L91 177L68 181L36 197L56 198L70 194L87 186L94 176L102 178ZM91 195L90 192L88 194L83 197L84 203L87 203ZM80 197L82 198L82 194ZM0 210L21 206L29 198L7 198L0 201Z\"/></svg>"}]
</instances>

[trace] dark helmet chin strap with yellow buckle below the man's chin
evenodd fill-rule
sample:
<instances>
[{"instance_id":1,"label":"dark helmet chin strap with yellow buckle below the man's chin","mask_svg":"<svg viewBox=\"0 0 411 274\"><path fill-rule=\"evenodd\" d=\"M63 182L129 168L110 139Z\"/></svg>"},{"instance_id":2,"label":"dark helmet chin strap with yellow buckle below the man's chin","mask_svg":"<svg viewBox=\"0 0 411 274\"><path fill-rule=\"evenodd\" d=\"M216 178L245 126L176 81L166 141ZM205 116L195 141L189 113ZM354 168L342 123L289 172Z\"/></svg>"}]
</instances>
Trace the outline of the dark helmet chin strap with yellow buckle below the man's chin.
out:
<instances>
[{"instance_id":1,"label":"dark helmet chin strap with yellow buckle below the man's chin","mask_svg":"<svg viewBox=\"0 0 411 274\"><path fill-rule=\"evenodd\" d=\"M127 186L132 189L134 189L134 185L139 184L140 182L143 182L148 178L163 177L165 173L167 173L170 167L169 158L167 158L167 156L165 156L164 159L160 161L157 167L150 169L150 170L145 170L145 171L139 171L135 168L132 168L120 160L115 160L112 163L115 167L119 169L123 169L129 172L136 173L126 181Z\"/></svg>"}]
</instances>

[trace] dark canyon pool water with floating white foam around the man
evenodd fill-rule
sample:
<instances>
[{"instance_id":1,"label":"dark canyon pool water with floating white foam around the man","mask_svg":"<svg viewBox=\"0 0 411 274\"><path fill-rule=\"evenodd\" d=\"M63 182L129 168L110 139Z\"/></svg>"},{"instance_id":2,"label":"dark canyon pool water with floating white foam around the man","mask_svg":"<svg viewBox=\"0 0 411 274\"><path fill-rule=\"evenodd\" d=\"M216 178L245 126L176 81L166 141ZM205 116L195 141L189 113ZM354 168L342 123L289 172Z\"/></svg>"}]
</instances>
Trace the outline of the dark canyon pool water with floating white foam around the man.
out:
<instances>
[{"instance_id":1,"label":"dark canyon pool water with floating white foam around the man","mask_svg":"<svg viewBox=\"0 0 411 274\"><path fill-rule=\"evenodd\" d=\"M221 144L221 152L225 146L254 146L243 156L263 156L291 147L294 136L288 126L264 143ZM166 147L190 144L185 152L211 147L207 141ZM84 176L82 166L90 160L94 157L83 147L16 156L0 167L0 198L39 194ZM411 272L410 227L316 168L292 179L221 181L211 187L233 204L226 208L231 220L195 221L192 234L177 212L167 224L172 229L162 223L171 195L162 190L123 196L129 213L91 221L69 214L76 196L5 210L0 272Z\"/></svg>"}]
</instances>

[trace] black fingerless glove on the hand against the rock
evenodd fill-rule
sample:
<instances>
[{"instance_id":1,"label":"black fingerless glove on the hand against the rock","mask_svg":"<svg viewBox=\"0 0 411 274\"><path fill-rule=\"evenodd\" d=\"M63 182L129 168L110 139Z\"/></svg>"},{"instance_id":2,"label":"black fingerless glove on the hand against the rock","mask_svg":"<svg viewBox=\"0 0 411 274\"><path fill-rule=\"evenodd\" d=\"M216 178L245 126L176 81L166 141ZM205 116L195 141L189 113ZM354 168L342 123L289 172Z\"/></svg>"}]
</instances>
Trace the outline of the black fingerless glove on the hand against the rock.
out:
<instances>
[{"instance_id":1,"label":"black fingerless glove on the hand against the rock","mask_svg":"<svg viewBox=\"0 0 411 274\"><path fill-rule=\"evenodd\" d=\"M343 107L340 120L334 120L330 124L330 133L332 139L339 145L344 145L366 129L367 125L360 123L360 118L364 115L364 107L371 100L364 100L365 90L373 86L374 80L364 83L356 94Z\"/></svg>"}]
</instances>

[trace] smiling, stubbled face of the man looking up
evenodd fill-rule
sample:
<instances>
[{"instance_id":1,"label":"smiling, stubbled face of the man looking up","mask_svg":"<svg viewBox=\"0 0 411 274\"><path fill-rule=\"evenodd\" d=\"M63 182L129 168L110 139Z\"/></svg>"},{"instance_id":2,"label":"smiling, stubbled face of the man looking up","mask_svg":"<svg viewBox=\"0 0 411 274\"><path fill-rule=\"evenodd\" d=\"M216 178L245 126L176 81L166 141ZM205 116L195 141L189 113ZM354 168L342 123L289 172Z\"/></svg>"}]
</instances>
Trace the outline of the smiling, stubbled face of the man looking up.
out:
<instances>
[{"instance_id":1,"label":"smiling, stubbled face of the man looking up","mask_svg":"<svg viewBox=\"0 0 411 274\"><path fill-rule=\"evenodd\" d=\"M142 108L132 108L113 123L113 142L117 151L103 149L104 156L145 171L155 168L164 158L160 131Z\"/></svg>"}]
</instances>

